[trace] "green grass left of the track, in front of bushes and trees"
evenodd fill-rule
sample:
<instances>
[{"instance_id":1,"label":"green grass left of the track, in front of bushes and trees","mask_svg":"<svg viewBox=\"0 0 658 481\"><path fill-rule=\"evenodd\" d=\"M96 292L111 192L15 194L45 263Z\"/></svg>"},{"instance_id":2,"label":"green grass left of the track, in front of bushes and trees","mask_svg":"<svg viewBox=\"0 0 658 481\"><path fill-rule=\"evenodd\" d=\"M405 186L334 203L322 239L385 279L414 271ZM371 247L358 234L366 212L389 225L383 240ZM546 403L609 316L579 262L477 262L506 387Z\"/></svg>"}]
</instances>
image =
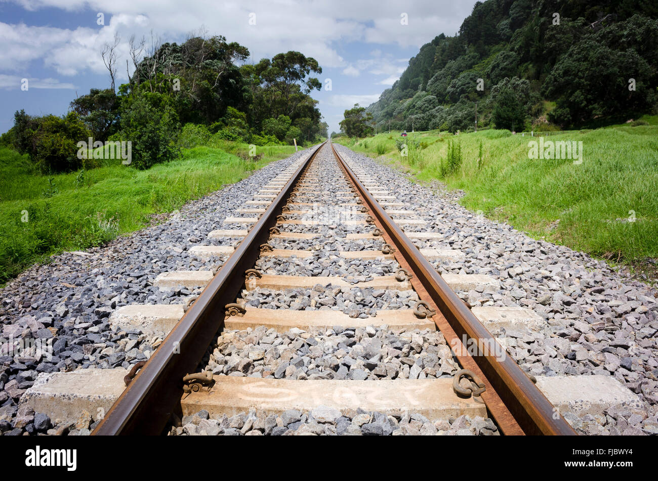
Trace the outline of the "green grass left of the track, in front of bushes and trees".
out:
<instances>
[{"instance_id":1,"label":"green grass left of the track, in front of bushes and trees","mask_svg":"<svg viewBox=\"0 0 658 481\"><path fill-rule=\"evenodd\" d=\"M257 147L263 157L253 162L235 155L247 152L245 144L222 147L184 149L180 160L149 170L107 160L82 174L51 176L36 173L27 156L0 147L0 285L51 254L141 229L152 214L176 210L295 151L291 146Z\"/></svg>"}]
</instances>

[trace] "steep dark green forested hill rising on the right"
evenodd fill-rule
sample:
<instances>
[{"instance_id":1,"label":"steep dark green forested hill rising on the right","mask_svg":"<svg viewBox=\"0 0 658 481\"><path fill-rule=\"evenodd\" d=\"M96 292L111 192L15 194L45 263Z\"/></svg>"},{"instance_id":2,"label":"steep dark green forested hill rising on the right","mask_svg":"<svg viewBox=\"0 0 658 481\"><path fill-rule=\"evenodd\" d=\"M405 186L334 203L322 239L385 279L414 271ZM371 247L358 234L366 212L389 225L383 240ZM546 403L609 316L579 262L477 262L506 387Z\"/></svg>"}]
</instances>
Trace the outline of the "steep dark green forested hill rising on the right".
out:
<instances>
[{"instance_id":1,"label":"steep dark green forested hill rising on the right","mask_svg":"<svg viewBox=\"0 0 658 481\"><path fill-rule=\"evenodd\" d=\"M478 2L367 112L378 130L452 132L476 108L479 127L517 131L637 118L656 109L657 18L655 0Z\"/></svg>"}]
</instances>

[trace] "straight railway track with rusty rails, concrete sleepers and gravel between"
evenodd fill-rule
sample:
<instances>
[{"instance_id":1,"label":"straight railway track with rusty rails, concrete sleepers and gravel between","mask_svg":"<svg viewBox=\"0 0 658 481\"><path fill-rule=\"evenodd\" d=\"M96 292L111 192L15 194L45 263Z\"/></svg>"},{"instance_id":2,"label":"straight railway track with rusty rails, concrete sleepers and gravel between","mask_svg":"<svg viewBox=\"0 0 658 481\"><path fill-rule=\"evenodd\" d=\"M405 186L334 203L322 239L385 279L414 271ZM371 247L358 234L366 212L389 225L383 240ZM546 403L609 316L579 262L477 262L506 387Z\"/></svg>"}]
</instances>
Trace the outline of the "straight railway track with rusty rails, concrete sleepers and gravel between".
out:
<instances>
[{"instance_id":1,"label":"straight railway track with rusty rails, concrete sleepers and gravel between","mask_svg":"<svg viewBox=\"0 0 658 481\"><path fill-rule=\"evenodd\" d=\"M313 421L310 432L318 417L351 434L365 415L373 434L388 434L387 423L449 426L469 415L502 434L574 434L451 289L478 279L442 277L428 261L459 262L461 252L415 246L440 238L422 232L422 206L397 202L330 143L247 204L226 219L234 228L209 235L233 246L190 249L228 257L221 269L156 280L207 286L189 308L168 308L182 318L132 369L93 434L181 434L181 420L199 412L226 424L247 411L247 426L243 415L227 434L254 423L291 430L282 413L296 426ZM150 318L166 315L177 317Z\"/></svg>"}]
</instances>

